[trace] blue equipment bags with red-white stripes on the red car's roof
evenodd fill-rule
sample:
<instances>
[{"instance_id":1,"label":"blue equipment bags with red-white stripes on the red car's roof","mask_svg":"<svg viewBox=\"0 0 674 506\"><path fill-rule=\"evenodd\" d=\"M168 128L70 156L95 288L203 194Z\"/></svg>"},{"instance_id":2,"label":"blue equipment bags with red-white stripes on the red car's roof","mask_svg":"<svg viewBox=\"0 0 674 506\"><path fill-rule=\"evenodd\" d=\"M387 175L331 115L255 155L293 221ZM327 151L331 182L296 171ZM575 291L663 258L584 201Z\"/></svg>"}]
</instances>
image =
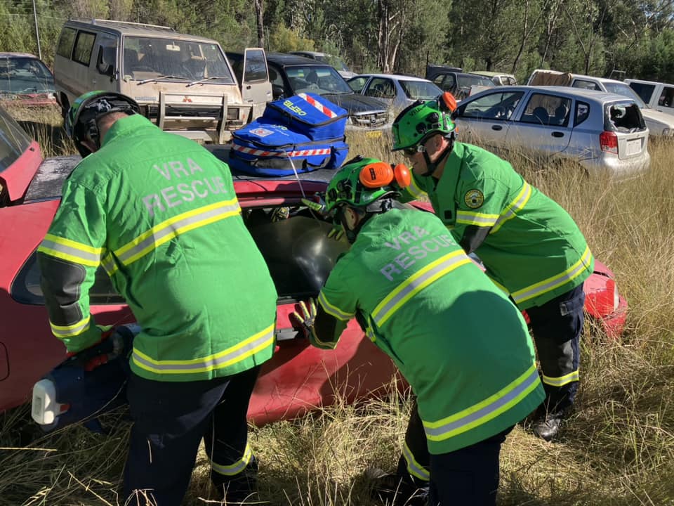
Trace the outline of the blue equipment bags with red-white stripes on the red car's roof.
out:
<instances>
[{"instance_id":1,"label":"blue equipment bags with red-white stripes on the red car's roof","mask_svg":"<svg viewBox=\"0 0 674 506\"><path fill-rule=\"evenodd\" d=\"M347 112L312 93L267 104L263 115L232 132L229 165L256 176L287 176L343 164Z\"/></svg>"}]
</instances>

